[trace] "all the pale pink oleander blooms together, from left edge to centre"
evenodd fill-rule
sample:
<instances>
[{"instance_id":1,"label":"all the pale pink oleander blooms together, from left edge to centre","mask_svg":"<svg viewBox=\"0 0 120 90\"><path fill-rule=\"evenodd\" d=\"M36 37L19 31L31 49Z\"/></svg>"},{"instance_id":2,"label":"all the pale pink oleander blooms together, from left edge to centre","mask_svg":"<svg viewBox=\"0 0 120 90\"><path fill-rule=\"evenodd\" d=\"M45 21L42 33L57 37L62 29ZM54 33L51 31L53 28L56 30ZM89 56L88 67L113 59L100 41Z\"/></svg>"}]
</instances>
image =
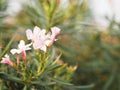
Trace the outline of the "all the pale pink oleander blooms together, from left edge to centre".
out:
<instances>
[{"instance_id":1,"label":"all the pale pink oleander blooms together, from left edge to centre","mask_svg":"<svg viewBox=\"0 0 120 90\"><path fill-rule=\"evenodd\" d=\"M33 48L40 49L44 52L47 51L47 47L51 46L54 41L56 41L56 36L60 33L60 29L58 27L52 27L51 32L46 33L45 29L40 29L39 27L35 26L33 31L28 29L26 30L26 36L28 40L31 40L32 42L30 44L25 45L24 40L20 40L18 44L17 49L11 49L11 54L18 54L17 57L17 63L19 63L20 58L19 54L22 54L23 60L26 61L26 51L31 50L31 45L33 45ZM2 58L1 63L8 64L10 66L14 66L14 63L10 60L9 55L5 55L4 58Z\"/></svg>"}]
</instances>

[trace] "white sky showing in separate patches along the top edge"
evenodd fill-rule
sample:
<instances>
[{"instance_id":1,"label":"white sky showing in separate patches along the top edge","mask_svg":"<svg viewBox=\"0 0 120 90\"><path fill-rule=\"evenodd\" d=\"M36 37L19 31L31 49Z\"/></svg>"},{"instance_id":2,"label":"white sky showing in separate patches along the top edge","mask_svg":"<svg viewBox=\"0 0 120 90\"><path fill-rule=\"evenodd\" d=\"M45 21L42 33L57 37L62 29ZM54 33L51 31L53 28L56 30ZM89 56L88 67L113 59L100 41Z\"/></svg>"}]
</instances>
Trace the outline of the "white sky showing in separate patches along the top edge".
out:
<instances>
[{"instance_id":1,"label":"white sky showing in separate patches along the top edge","mask_svg":"<svg viewBox=\"0 0 120 90\"><path fill-rule=\"evenodd\" d=\"M9 0L8 13L13 14L21 10L20 3L25 3L27 0ZM63 1L63 5L67 4L67 0ZM120 0L88 0L89 7L93 12L95 20L101 25L107 26L109 23L105 19L107 16L112 19L113 16L117 22L120 22ZM13 14L14 15L14 14Z\"/></svg>"}]
</instances>

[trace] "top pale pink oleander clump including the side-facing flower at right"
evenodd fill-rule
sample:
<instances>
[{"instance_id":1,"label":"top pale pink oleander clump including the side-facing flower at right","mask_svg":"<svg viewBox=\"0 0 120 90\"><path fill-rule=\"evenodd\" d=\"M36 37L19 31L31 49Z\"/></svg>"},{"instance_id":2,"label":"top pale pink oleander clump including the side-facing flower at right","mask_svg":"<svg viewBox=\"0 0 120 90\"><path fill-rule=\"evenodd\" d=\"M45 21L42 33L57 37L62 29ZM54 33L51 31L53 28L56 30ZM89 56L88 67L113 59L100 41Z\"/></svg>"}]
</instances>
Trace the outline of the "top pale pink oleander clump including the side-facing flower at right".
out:
<instances>
[{"instance_id":1,"label":"top pale pink oleander clump including the side-facing flower at right","mask_svg":"<svg viewBox=\"0 0 120 90\"><path fill-rule=\"evenodd\" d=\"M51 46L53 42L56 40L56 36L60 33L60 29L57 27L51 28L51 33L46 34L45 29L40 29L39 27L35 26L32 30L26 30L26 36L28 40L32 40L33 48L40 49L46 52L47 46Z\"/></svg>"}]
</instances>

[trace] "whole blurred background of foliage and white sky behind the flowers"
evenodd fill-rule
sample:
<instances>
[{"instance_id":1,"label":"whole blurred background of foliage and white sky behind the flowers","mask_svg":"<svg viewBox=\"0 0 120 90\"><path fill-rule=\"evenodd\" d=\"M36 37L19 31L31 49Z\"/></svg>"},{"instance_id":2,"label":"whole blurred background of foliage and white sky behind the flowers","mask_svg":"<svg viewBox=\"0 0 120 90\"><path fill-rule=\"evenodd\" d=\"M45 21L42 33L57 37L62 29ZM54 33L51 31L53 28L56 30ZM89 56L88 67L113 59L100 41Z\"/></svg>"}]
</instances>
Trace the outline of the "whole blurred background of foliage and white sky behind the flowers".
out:
<instances>
[{"instance_id":1,"label":"whole blurred background of foliage and white sky behind the flowers","mask_svg":"<svg viewBox=\"0 0 120 90\"><path fill-rule=\"evenodd\" d=\"M71 82L95 85L84 90L120 90L119 9L120 0L0 0L0 57L26 40L26 29L58 26L54 47L78 67Z\"/></svg>"}]
</instances>

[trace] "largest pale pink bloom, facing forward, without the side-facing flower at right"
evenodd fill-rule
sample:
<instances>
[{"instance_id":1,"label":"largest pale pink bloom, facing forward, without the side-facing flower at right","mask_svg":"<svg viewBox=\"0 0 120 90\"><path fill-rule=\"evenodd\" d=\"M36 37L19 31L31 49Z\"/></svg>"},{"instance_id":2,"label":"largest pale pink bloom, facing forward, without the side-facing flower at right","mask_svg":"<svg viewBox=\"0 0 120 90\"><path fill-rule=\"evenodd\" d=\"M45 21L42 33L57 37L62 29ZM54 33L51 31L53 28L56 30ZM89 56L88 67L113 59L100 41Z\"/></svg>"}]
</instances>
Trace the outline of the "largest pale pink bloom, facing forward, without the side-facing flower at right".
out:
<instances>
[{"instance_id":1,"label":"largest pale pink bloom, facing forward, without the side-facing flower at right","mask_svg":"<svg viewBox=\"0 0 120 90\"><path fill-rule=\"evenodd\" d=\"M49 34L46 34L46 30L41 30L39 27L35 26L33 32L31 30L26 31L26 36L28 40L33 41L33 48L34 49L41 49L46 52L47 49L47 42L46 40L49 37Z\"/></svg>"}]
</instances>

